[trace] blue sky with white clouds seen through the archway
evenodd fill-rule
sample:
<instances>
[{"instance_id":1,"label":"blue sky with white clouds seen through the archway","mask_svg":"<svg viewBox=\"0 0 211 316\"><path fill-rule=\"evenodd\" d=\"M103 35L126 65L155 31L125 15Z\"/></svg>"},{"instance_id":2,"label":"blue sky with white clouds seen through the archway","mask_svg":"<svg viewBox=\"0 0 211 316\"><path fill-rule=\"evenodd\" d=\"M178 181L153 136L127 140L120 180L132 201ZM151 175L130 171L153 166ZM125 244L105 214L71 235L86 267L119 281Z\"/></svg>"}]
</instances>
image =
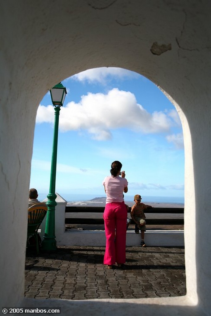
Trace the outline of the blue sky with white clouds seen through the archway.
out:
<instances>
[{"instance_id":1,"label":"blue sky with white clouds seen through the archway","mask_svg":"<svg viewBox=\"0 0 211 316\"><path fill-rule=\"evenodd\" d=\"M121 161L128 195L183 197L184 149L175 107L147 78L95 68L65 79L59 115L56 192L105 196L102 181ZM49 191L54 109L48 92L37 111L30 187Z\"/></svg>"}]
</instances>

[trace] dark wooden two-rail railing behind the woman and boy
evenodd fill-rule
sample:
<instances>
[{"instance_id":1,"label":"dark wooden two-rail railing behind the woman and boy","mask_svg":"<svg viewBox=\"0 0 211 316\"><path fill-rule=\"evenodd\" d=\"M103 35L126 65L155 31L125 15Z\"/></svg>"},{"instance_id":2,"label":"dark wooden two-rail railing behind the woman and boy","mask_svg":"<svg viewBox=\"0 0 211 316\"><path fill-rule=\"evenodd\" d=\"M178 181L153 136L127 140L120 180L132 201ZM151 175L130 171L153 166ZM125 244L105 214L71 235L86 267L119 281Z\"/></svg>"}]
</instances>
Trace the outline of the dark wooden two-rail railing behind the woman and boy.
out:
<instances>
[{"instance_id":1,"label":"dark wooden two-rail railing behind the woman and boy","mask_svg":"<svg viewBox=\"0 0 211 316\"><path fill-rule=\"evenodd\" d=\"M130 212L131 208L129 208ZM92 206L66 206L65 213L103 213L104 207ZM147 225L183 225L183 218L168 218L168 214L184 214L184 208L163 208L153 207L144 210L146 214ZM154 218L147 218L147 213L155 214ZM166 214L166 218L156 218L157 214ZM129 216L130 218L130 216ZM89 214L89 218L71 217L65 218L65 224L104 224L103 218L93 218ZM131 219L131 224L134 224Z\"/></svg>"}]
</instances>

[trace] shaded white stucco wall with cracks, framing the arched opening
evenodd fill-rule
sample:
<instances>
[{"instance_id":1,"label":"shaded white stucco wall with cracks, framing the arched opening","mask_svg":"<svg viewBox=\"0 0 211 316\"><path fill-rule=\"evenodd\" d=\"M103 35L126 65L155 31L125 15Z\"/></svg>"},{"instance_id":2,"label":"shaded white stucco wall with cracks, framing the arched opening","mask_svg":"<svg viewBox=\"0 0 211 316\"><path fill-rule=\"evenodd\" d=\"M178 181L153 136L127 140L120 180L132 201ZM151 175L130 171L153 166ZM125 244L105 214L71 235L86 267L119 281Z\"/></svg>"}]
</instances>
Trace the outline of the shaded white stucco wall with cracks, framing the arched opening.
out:
<instances>
[{"instance_id":1,"label":"shaded white stucco wall with cracks, framing the arched opening","mask_svg":"<svg viewBox=\"0 0 211 316\"><path fill-rule=\"evenodd\" d=\"M145 315L209 315L210 2L208 0L7 0L0 2L1 305L23 300L28 188L37 107L47 90L100 66L136 71L178 109L185 144L187 295L147 300L55 301L72 315L80 306ZM171 44L160 55L154 44ZM154 47L153 46L153 47ZM140 307L141 304L141 307ZM30 305L31 306L31 305ZM71 310L70 310L71 307ZM110 308L110 310L109 310ZM80 312L81 311L81 312Z\"/></svg>"}]
</instances>

